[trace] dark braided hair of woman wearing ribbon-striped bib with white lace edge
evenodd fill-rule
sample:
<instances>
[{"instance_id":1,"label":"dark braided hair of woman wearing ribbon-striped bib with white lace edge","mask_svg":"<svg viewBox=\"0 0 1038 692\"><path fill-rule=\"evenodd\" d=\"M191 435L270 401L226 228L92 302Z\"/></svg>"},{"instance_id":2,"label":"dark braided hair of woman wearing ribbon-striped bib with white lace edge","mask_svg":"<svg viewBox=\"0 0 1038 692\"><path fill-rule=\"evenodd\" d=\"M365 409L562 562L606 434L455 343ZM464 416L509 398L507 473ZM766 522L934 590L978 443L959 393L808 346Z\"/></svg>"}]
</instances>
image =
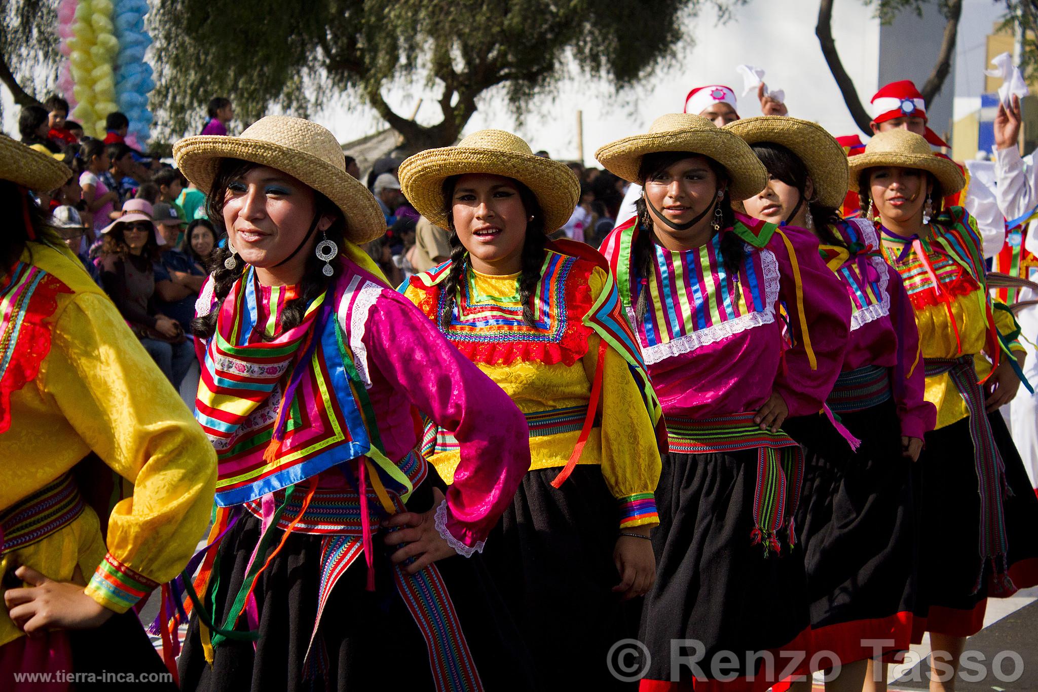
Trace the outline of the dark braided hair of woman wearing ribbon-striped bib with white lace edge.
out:
<instances>
[{"instance_id":1,"label":"dark braided hair of woman wearing ribbon-striped bib with white lace edge","mask_svg":"<svg viewBox=\"0 0 1038 692\"><path fill-rule=\"evenodd\" d=\"M638 166L638 179L649 181L678 161L693 156L702 155L689 151L647 154L643 157L641 164ZM727 183L729 177L725 167L709 157L703 158L706 159L707 165L713 171L718 185ZM725 265L726 272L729 274L738 274L745 257L745 249L743 248L742 240L738 236L725 232L726 229L735 225L735 212L732 211L732 200L729 196L727 186L725 195L717 203L720 205L721 211L720 258ZM635 207L637 209L638 225L641 227L641 232L637 233L634 245L631 247L631 278L637 282L641 282L648 281L648 278L656 271L656 232L653 228L652 217L649 215L645 196L638 198L635 202ZM637 301L634 304L634 314L639 321L644 321L646 312L649 309L649 292L641 289L636 290L636 293Z\"/></svg>"}]
</instances>

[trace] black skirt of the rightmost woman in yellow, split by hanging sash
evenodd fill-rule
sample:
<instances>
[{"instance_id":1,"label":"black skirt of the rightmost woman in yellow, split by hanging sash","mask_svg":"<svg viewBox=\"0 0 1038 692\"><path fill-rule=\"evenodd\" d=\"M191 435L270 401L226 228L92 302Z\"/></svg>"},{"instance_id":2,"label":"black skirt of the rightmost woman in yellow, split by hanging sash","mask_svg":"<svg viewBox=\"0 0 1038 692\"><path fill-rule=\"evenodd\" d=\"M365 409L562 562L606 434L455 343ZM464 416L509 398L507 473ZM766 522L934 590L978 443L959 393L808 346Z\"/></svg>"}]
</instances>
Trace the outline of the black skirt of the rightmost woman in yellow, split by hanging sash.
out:
<instances>
[{"instance_id":1,"label":"black skirt of the rightmost woman in yellow, split by hanging sash","mask_svg":"<svg viewBox=\"0 0 1038 692\"><path fill-rule=\"evenodd\" d=\"M1000 588L991 564L978 551L980 495L969 437L969 419L926 434L917 464L920 519L920 601L923 631L968 637L983 628L987 597L1007 598L1038 584L1038 498L999 412L988 414L995 445L1006 466L1011 495L1003 499L1009 542L1009 578L1014 588ZM983 573L981 573L983 570ZM981 588L976 590L982 575Z\"/></svg>"}]
</instances>

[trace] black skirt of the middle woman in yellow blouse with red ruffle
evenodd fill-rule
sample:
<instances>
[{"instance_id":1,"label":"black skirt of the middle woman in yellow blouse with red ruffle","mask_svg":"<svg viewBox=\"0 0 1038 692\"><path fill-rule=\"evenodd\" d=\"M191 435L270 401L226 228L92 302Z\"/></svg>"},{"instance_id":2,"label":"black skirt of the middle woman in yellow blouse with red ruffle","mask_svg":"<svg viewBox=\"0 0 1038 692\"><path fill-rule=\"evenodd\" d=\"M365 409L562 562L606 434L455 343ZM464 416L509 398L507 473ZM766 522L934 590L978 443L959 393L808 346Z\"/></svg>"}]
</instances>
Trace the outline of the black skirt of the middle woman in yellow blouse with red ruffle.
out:
<instances>
[{"instance_id":1,"label":"black skirt of the middle woman in yellow blouse with red ruffle","mask_svg":"<svg viewBox=\"0 0 1038 692\"><path fill-rule=\"evenodd\" d=\"M597 465L528 471L487 538L487 568L519 624L548 690L631 689L609 673L606 655L637 635L641 599L612 587L620 516Z\"/></svg>"}]
</instances>

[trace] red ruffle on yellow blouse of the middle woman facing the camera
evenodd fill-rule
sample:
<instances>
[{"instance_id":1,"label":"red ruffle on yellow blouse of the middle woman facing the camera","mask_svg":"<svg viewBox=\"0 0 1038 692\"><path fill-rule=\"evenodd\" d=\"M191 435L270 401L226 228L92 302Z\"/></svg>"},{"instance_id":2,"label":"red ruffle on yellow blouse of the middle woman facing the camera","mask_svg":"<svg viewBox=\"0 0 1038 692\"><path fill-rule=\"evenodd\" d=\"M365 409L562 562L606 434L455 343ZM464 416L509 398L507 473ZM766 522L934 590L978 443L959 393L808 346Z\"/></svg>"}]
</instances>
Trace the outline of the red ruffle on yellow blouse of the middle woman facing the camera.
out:
<instances>
[{"instance_id":1,"label":"red ruffle on yellow blouse of the middle woman facing the camera","mask_svg":"<svg viewBox=\"0 0 1038 692\"><path fill-rule=\"evenodd\" d=\"M534 330L529 327L501 331L501 341L467 340L455 332L447 337L458 351L474 363L485 365L511 365L515 362L534 362L545 365L564 363L574 365L588 354L588 339L593 329L583 323L584 315L591 311L594 301L588 280L595 266L577 259L570 269L566 280L566 330L558 341L544 342L524 338ZM422 290L418 307L427 315L435 319L439 307L440 285L433 286L411 284ZM538 330L538 334L545 332ZM507 339L507 340L506 340Z\"/></svg>"}]
</instances>

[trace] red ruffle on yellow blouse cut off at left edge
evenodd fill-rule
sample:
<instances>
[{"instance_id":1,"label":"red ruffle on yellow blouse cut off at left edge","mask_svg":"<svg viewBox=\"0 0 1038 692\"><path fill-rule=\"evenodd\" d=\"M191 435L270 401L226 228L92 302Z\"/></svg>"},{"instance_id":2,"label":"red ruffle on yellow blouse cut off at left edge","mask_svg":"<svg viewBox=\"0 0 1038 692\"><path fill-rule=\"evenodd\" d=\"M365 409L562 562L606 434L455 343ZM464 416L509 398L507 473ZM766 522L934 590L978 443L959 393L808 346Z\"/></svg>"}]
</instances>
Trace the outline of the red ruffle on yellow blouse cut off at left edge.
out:
<instances>
[{"instance_id":1,"label":"red ruffle on yellow blouse cut off at left edge","mask_svg":"<svg viewBox=\"0 0 1038 692\"><path fill-rule=\"evenodd\" d=\"M0 378L0 433L10 428L10 395L35 379L40 363L51 352L51 329L45 323L57 309L57 295L71 293L69 286L49 274L33 290L25 307L15 352ZM3 330L7 328L8 325L0 326Z\"/></svg>"}]
</instances>

